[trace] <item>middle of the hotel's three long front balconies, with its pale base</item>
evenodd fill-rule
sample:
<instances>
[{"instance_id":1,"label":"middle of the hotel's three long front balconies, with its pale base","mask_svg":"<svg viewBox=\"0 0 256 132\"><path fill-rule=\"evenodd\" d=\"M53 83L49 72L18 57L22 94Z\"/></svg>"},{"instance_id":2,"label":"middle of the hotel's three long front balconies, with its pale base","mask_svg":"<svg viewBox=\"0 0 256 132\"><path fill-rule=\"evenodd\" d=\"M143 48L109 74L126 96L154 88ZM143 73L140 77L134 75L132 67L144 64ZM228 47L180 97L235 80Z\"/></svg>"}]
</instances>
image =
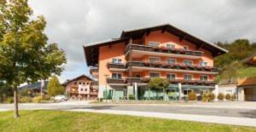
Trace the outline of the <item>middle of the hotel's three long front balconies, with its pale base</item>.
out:
<instances>
[{"instance_id":1,"label":"middle of the hotel's three long front balconies, with its pale base","mask_svg":"<svg viewBox=\"0 0 256 132\"><path fill-rule=\"evenodd\" d=\"M177 72L201 72L201 73L207 73L212 72L214 74L218 73L218 68L210 67L210 66L186 66L183 64L166 64L166 63L150 63L147 61L130 61L126 65L129 67L139 67L139 68L153 68L155 70L159 71L177 71ZM152 70L152 69L148 69Z\"/></svg>"}]
</instances>

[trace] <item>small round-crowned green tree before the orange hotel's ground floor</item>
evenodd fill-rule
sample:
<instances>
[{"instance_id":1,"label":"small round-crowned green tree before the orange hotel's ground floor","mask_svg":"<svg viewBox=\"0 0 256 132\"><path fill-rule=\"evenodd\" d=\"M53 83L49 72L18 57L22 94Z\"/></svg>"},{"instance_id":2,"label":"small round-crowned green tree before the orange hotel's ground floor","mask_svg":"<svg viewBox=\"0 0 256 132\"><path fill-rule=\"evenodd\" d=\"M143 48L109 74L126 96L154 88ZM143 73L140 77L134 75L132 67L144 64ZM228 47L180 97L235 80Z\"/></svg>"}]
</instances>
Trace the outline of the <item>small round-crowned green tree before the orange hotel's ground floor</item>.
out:
<instances>
[{"instance_id":1,"label":"small round-crowned green tree before the orange hotel's ground floor","mask_svg":"<svg viewBox=\"0 0 256 132\"><path fill-rule=\"evenodd\" d=\"M162 89L163 92L165 92L168 85L169 83L167 83L165 79L160 77L152 77L148 82L148 89Z\"/></svg>"}]
</instances>

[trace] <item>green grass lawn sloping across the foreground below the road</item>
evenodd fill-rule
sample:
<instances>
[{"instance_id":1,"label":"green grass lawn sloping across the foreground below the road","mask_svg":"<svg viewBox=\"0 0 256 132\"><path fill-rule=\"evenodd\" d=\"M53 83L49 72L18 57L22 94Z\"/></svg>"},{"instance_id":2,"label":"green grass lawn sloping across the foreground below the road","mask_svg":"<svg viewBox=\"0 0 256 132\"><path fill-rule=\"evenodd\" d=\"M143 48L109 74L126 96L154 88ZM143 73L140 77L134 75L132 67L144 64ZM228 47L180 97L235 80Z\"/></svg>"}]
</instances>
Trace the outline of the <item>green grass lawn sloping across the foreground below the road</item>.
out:
<instances>
[{"instance_id":1,"label":"green grass lawn sloping across the foreground below the road","mask_svg":"<svg viewBox=\"0 0 256 132\"><path fill-rule=\"evenodd\" d=\"M231 121L230 121L231 122ZM90 112L20 111L0 112L1 132L32 131L256 131L256 128L196 123L158 118L140 118Z\"/></svg>"}]
</instances>

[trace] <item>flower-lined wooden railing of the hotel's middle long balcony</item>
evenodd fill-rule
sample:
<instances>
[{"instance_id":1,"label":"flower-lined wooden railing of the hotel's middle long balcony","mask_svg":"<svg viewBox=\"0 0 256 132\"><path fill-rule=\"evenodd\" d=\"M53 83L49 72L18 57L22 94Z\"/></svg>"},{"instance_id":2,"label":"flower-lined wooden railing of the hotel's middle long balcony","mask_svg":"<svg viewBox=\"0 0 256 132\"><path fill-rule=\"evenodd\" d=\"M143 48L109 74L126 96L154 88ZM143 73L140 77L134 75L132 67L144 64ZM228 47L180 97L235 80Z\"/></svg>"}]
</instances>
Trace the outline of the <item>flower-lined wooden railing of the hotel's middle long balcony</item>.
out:
<instances>
[{"instance_id":1,"label":"flower-lined wooden railing of the hotel's middle long balcony","mask_svg":"<svg viewBox=\"0 0 256 132\"><path fill-rule=\"evenodd\" d=\"M200 71L200 72L219 72L218 68L210 66L186 66L183 64L166 64L166 63L150 63L147 61L130 61L126 64L129 66L139 67L152 67L152 68L165 68L165 69L176 69L176 70L189 70L189 71Z\"/></svg>"}]
</instances>

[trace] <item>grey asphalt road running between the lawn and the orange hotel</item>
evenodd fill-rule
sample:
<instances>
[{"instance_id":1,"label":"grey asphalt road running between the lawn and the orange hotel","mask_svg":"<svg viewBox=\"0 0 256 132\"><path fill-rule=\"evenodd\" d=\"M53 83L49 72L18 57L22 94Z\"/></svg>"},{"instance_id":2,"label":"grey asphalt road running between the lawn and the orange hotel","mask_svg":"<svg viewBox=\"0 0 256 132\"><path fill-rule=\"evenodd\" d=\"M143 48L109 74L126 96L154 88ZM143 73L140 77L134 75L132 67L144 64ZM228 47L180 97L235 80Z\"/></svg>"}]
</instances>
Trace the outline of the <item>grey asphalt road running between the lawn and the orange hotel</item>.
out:
<instances>
[{"instance_id":1,"label":"grey asphalt road running between the lawn and the orange hotel","mask_svg":"<svg viewBox=\"0 0 256 132\"><path fill-rule=\"evenodd\" d=\"M13 105L1 105L0 110L12 110ZM75 109L90 109L90 110L120 110L120 111L137 111L137 112L165 112L165 113L180 113L180 114L196 114L196 115L211 115L222 117L236 118L256 118L256 109L241 109L241 108L218 108L218 107L203 107L203 106L186 106L186 105L112 105L112 104L20 104L20 109L55 109L55 110L75 110Z\"/></svg>"}]
</instances>

